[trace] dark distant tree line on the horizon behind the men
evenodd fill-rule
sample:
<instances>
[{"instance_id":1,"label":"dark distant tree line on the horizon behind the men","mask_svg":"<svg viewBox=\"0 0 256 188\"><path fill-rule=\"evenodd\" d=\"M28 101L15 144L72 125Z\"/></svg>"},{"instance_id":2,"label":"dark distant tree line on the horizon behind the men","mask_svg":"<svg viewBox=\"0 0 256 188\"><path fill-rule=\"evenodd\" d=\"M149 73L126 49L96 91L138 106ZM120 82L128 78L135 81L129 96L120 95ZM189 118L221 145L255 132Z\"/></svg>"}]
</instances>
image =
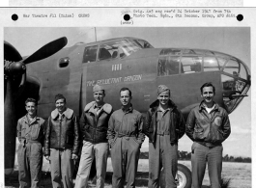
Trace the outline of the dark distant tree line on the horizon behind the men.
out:
<instances>
[{"instance_id":1,"label":"dark distant tree line on the horizon behind the men","mask_svg":"<svg viewBox=\"0 0 256 188\"><path fill-rule=\"evenodd\" d=\"M179 150L179 160L190 160L191 159L191 152ZM148 159L149 152L140 152L140 159ZM222 157L223 161L226 162L239 162L239 163L251 163L251 157L234 157L232 155L226 154Z\"/></svg>"}]
</instances>

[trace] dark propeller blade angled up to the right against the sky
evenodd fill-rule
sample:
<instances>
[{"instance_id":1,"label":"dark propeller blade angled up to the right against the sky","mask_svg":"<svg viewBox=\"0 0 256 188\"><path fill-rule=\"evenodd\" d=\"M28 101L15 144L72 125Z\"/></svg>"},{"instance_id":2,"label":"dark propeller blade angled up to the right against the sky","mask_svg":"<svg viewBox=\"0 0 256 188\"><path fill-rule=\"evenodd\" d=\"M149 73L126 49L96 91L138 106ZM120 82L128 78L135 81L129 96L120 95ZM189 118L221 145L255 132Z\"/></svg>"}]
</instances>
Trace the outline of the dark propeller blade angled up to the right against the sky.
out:
<instances>
[{"instance_id":1,"label":"dark propeller blade angled up to the right against the sky","mask_svg":"<svg viewBox=\"0 0 256 188\"><path fill-rule=\"evenodd\" d=\"M23 63L30 64L43 60L61 50L67 43L68 39L66 37L60 38L58 40L53 40L43 45L42 48L40 48L34 54L30 55L27 59L25 59Z\"/></svg>"}]
</instances>

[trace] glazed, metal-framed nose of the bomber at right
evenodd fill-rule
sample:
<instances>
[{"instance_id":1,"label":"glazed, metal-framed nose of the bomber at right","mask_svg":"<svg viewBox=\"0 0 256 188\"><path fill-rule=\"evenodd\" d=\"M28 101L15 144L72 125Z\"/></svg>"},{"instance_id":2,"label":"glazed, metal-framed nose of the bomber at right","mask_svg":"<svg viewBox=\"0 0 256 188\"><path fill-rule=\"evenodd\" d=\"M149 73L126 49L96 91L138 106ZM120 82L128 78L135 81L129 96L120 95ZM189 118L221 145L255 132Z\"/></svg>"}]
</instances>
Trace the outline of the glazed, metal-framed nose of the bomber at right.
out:
<instances>
[{"instance_id":1,"label":"glazed, metal-framed nose of the bomber at right","mask_svg":"<svg viewBox=\"0 0 256 188\"><path fill-rule=\"evenodd\" d=\"M157 76L192 75L216 72L220 75L223 106L233 112L247 95L250 70L240 59L205 49L162 48L158 55ZM205 97L213 95L204 94Z\"/></svg>"}]
</instances>

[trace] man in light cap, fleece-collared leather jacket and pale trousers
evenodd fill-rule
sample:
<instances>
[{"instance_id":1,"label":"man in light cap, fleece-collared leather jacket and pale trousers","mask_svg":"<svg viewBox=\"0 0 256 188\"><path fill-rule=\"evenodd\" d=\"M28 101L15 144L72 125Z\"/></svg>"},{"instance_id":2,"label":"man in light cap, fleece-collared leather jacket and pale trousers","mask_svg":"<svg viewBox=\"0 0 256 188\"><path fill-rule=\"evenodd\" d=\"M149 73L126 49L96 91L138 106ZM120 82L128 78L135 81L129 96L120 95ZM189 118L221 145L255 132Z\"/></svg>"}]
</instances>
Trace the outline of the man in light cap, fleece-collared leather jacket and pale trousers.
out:
<instances>
[{"instance_id":1,"label":"man in light cap, fleece-collared leather jacket and pale trousers","mask_svg":"<svg viewBox=\"0 0 256 188\"><path fill-rule=\"evenodd\" d=\"M87 186L94 160L96 160L97 187L104 187L108 156L106 131L112 114L112 106L104 102L105 91L102 86L95 85L93 93L95 101L85 106L80 119L83 147L75 188Z\"/></svg>"}]
</instances>

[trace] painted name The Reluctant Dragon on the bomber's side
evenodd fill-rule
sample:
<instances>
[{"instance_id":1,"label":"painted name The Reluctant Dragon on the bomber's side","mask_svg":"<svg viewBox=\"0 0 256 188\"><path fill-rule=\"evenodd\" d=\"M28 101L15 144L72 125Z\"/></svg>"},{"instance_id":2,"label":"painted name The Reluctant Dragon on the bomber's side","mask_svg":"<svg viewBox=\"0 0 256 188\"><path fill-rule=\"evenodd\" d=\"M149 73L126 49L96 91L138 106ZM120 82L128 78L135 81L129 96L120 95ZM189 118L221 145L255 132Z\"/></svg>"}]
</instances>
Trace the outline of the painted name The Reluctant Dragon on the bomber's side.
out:
<instances>
[{"instance_id":1,"label":"painted name The Reluctant Dragon on the bomber's side","mask_svg":"<svg viewBox=\"0 0 256 188\"><path fill-rule=\"evenodd\" d=\"M86 86L95 86L98 85L108 85L108 84L118 84L121 82L135 82L142 79L142 74L131 75L126 77L117 77L117 78L107 78L101 80L89 80L86 82Z\"/></svg>"}]
</instances>

